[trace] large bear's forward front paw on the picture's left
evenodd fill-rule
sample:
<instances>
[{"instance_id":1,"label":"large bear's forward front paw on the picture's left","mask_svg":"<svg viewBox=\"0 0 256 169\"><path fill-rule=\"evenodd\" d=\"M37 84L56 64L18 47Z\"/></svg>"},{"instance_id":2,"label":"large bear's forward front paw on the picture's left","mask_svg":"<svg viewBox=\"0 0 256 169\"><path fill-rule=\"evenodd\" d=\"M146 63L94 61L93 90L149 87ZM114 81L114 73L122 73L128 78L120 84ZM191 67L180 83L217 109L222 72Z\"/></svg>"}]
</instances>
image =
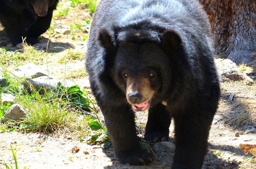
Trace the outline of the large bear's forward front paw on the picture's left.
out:
<instances>
[{"instance_id":1,"label":"large bear's forward front paw on the picture's left","mask_svg":"<svg viewBox=\"0 0 256 169\"><path fill-rule=\"evenodd\" d=\"M148 152L135 152L135 153L127 153L127 152L117 152L116 156L120 163L122 164L130 164L130 165L148 165L153 161L157 161L157 159Z\"/></svg>"}]
</instances>

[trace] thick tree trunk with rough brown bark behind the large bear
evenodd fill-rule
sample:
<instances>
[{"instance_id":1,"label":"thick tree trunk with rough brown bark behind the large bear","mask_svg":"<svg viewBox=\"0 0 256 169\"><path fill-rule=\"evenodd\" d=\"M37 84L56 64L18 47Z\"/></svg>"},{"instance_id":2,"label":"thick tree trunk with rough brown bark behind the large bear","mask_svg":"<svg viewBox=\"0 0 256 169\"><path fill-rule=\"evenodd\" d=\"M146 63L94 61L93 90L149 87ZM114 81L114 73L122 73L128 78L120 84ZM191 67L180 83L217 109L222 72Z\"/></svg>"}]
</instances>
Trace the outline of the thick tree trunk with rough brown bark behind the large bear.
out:
<instances>
[{"instance_id":1,"label":"thick tree trunk with rough brown bark behind the large bear","mask_svg":"<svg viewBox=\"0 0 256 169\"><path fill-rule=\"evenodd\" d=\"M209 15L215 54L235 63L255 60L256 0L200 0Z\"/></svg>"}]
</instances>

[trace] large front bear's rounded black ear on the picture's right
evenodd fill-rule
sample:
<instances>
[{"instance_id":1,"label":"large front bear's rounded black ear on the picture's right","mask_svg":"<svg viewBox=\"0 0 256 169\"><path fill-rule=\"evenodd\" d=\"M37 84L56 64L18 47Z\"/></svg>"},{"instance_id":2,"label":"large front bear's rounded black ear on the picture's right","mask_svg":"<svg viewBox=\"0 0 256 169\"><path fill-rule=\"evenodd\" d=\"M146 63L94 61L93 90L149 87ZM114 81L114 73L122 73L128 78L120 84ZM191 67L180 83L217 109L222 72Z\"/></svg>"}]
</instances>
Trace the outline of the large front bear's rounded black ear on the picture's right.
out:
<instances>
[{"instance_id":1,"label":"large front bear's rounded black ear on the picture's right","mask_svg":"<svg viewBox=\"0 0 256 169\"><path fill-rule=\"evenodd\" d=\"M180 47L182 43L180 36L172 30L167 30L166 32L164 32L161 41L163 49L166 50L176 50Z\"/></svg>"}]
</instances>

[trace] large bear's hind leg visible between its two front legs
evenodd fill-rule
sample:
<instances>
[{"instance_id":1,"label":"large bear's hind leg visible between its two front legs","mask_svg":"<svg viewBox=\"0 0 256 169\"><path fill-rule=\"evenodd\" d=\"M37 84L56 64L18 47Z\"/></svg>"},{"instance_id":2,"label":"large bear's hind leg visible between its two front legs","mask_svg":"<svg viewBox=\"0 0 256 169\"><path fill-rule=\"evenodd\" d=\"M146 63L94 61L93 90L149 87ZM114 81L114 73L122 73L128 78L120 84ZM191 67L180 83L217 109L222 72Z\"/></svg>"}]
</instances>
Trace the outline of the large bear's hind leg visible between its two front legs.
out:
<instances>
[{"instance_id":1,"label":"large bear's hind leg visible between its two front legs","mask_svg":"<svg viewBox=\"0 0 256 169\"><path fill-rule=\"evenodd\" d=\"M171 120L170 113L162 103L150 107L144 139L150 142L168 141Z\"/></svg>"}]
</instances>

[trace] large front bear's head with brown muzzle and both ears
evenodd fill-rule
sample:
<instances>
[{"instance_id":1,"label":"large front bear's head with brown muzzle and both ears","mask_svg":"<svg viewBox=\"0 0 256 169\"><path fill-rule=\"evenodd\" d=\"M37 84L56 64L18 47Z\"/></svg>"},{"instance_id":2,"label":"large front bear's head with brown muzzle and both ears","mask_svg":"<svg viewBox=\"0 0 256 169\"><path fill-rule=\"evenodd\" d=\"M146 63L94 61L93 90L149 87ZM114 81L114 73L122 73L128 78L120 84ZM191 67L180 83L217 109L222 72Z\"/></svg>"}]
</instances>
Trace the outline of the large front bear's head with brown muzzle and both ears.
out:
<instances>
[{"instance_id":1,"label":"large front bear's head with brown muzzle and both ears","mask_svg":"<svg viewBox=\"0 0 256 169\"><path fill-rule=\"evenodd\" d=\"M106 29L101 29L99 41L107 51L116 48L115 56L107 56L114 57L111 77L132 109L144 111L166 98L172 83L171 57L176 57L181 38L171 30L158 37L160 43L138 32L122 33L128 37L115 39Z\"/></svg>"}]
</instances>

